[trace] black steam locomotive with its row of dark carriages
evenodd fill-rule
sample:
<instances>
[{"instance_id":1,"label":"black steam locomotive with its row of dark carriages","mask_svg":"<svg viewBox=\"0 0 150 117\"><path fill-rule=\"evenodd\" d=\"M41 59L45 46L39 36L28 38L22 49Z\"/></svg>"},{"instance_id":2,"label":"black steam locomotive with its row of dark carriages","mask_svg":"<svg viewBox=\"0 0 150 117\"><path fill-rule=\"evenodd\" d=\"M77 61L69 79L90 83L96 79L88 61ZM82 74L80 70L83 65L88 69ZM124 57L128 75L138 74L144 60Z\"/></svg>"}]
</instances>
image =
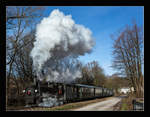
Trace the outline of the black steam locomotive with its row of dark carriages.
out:
<instances>
[{"instance_id":1,"label":"black steam locomotive with its row of dark carriages","mask_svg":"<svg viewBox=\"0 0 150 117\"><path fill-rule=\"evenodd\" d=\"M23 93L26 105L48 107L57 106L68 102L109 97L114 95L113 89L104 87L49 82L38 82L36 85L32 85L23 90ZM52 100L53 102L51 102ZM48 101L51 102L51 104Z\"/></svg>"}]
</instances>

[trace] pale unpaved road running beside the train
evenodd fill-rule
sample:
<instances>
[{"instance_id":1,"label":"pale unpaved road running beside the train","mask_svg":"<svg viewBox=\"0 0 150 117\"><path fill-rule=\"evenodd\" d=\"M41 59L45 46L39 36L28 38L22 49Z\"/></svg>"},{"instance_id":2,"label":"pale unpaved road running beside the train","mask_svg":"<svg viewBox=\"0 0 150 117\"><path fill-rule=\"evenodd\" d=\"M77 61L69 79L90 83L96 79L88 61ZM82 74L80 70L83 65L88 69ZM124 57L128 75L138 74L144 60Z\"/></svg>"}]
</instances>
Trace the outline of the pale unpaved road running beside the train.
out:
<instances>
[{"instance_id":1,"label":"pale unpaved road running beside the train","mask_svg":"<svg viewBox=\"0 0 150 117\"><path fill-rule=\"evenodd\" d=\"M125 98L125 96L111 97L105 101L87 105L82 108L74 109L73 111L113 111L114 106Z\"/></svg>"}]
</instances>

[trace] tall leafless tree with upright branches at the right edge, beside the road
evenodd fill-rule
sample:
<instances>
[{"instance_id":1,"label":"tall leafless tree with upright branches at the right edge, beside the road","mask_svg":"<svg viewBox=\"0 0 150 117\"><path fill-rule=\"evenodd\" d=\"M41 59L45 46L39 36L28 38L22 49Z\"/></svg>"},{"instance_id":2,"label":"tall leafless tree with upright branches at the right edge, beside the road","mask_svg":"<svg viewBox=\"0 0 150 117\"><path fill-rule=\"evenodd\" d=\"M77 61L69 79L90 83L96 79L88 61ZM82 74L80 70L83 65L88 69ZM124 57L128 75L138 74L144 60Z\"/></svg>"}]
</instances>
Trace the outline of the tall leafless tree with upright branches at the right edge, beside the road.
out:
<instances>
[{"instance_id":1,"label":"tall leafless tree with upright branches at the right edge, beside the road","mask_svg":"<svg viewBox=\"0 0 150 117\"><path fill-rule=\"evenodd\" d=\"M134 24L127 26L114 40L113 67L127 76L136 91L137 97L143 96L143 32Z\"/></svg>"}]
</instances>

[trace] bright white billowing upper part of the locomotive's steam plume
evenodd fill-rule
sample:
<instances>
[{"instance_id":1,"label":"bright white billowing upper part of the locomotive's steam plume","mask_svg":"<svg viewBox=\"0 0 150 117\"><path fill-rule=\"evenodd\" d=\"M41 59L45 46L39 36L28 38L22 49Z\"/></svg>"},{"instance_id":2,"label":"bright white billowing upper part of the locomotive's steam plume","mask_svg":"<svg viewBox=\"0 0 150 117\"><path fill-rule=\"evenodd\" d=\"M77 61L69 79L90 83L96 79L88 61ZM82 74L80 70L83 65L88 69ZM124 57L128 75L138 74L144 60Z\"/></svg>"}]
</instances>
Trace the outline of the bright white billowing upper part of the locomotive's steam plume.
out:
<instances>
[{"instance_id":1,"label":"bright white billowing upper part of the locomotive's steam plume","mask_svg":"<svg viewBox=\"0 0 150 117\"><path fill-rule=\"evenodd\" d=\"M65 16L58 9L53 10L36 27L36 41L31 51L35 70L37 73L40 72L48 60L54 64L57 60L68 56L77 58L89 53L94 46L91 35L92 32L88 28L75 24L71 15ZM59 71L51 70L51 72L55 77L60 75ZM70 69L66 69L65 73L70 74Z\"/></svg>"}]
</instances>

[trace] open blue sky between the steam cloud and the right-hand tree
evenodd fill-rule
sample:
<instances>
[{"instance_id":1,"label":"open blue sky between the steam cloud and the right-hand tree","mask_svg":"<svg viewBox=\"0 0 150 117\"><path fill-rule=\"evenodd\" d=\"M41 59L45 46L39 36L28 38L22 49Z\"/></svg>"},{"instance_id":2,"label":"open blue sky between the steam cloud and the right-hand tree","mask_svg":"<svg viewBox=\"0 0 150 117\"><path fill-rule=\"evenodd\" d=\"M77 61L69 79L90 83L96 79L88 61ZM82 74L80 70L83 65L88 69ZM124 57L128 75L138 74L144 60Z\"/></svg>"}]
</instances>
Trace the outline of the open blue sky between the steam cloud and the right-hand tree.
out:
<instances>
[{"instance_id":1,"label":"open blue sky between the steam cloud and the right-hand tree","mask_svg":"<svg viewBox=\"0 0 150 117\"><path fill-rule=\"evenodd\" d=\"M91 54L86 54L79 59L83 63L96 60L104 69L106 75L115 73L112 64L112 44L110 37L127 24L135 20L137 25L144 25L144 7L142 6L48 6L44 16L48 16L54 9L59 9L65 15L72 15L76 24L88 27L95 40Z\"/></svg>"}]
</instances>

